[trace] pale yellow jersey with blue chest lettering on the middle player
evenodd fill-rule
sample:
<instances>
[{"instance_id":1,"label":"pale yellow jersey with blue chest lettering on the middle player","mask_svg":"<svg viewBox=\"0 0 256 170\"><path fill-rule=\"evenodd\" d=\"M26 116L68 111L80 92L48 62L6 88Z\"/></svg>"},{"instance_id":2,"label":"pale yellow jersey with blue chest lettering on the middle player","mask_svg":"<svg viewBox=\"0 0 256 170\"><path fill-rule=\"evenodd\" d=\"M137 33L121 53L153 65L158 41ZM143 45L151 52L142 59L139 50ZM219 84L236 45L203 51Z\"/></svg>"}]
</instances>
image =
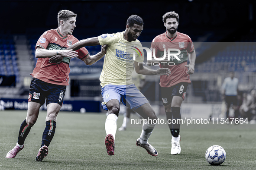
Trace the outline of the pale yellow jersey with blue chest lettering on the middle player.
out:
<instances>
[{"instance_id":1,"label":"pale yellow jersey with blue chest lettering on the middle player","mask_svg":"<svg viewBox=\"0 0 256 170\"><path fill-rule=\"evenodd\" d=\"M107 53L100 74L100 85L130 85L133 72L133 54L136 62L144 61L142 45L139 40L128 42L123 38L123 32L104 34L98 37L100 45L107 44ZM138 48L141 53L136 53ZM137 50L138 51L138 50Z\"/></svg>"}]
</instances>

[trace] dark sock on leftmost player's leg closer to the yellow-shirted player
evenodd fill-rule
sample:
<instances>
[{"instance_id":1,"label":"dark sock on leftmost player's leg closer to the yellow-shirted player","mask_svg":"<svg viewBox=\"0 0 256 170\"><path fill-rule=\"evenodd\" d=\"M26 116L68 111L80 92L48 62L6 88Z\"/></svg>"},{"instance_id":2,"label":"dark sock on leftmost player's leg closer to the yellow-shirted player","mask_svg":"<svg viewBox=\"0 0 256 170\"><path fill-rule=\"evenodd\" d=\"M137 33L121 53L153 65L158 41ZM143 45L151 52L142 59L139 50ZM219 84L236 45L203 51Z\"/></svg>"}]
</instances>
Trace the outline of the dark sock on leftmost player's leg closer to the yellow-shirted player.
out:
<instances>
[{"instance_id":1,"label":"dark sock on leftmost player's leg closer to the yellow-shirted player","mask_svg":"<svg viewBox=\"0 0 256 170\"><path fill-rule=\"evenodd\" d=\"M47 122L45 122L46 126L45 126L45 130L43 132L42 135L42 146L46 145L49 146L52 138L55 134L55 129L56 129L56 122L53 120L49 120Z\"/></svg>"}]
</instances>

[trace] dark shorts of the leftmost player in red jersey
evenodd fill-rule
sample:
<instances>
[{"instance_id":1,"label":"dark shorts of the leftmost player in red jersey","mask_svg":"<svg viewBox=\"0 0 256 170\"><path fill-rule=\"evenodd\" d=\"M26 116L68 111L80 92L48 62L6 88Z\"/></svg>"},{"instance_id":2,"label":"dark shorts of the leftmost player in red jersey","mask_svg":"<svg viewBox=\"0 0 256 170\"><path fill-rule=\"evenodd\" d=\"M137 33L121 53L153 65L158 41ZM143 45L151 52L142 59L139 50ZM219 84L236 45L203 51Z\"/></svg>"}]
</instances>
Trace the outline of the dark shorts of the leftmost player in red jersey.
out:
<instances>
[{"instance_id":1,"label":"dark shorts of the leftmost player in red jersey","mask_svg":"<svg viewBox=\"0 0 256 170\"><path fill-rule=\"evenodd\" d=\"M50 103L58 103L62 106L63 98L66 91L65 85L54 85L42 80L32 78L29 88L29 101L46 105Z\"/></svg>"}]
</instances>

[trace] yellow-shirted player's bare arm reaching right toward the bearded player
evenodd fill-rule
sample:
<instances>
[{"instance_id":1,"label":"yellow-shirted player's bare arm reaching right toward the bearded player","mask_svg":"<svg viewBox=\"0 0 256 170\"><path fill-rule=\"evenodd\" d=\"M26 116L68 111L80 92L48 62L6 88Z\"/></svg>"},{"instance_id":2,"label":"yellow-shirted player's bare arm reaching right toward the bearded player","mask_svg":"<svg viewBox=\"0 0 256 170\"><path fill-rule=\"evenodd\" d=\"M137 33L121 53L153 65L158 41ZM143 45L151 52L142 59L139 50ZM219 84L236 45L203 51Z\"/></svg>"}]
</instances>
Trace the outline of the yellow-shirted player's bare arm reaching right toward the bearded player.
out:
<instances>
[{"instance_id":1,"label":"yellow-shirted player's bare arm reaching right toward the bearded player","mask_svg":"<svg viewBox=\"0 0 256 170\"><path fill-rule=\"evenodd\" d=\"M157 76L170 76L171 75L171 71L168 68L160 68L157 70L153 70L153 69L149 69L147 67L144 67L143 65L139 65L138 62L134 61L134 65L135 65L135 71L138 74L143 74L143 75L148 75L148 76L152 76L152 75L157 75Z\"/></svg>"}]
</instances>

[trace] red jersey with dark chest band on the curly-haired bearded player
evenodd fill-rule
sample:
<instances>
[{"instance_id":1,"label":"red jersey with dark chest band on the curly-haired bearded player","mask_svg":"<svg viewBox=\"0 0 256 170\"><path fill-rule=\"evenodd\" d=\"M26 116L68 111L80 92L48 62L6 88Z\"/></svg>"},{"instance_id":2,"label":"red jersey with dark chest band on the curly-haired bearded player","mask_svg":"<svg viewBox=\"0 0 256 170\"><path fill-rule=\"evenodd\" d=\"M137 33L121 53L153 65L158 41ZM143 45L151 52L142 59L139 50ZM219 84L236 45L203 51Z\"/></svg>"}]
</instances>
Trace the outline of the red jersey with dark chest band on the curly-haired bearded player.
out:
<instances>
[{"instance_id":1,"label":"red jersey with dark chest band on the curly-haired bearded player","mask_svg":"<svg viewBox=\"0 0 256 170\"><path fill-rule=\"evenodd\" d=\"M156 36L151 43L151 49L155 49L155 56L157 58L162 58L165 50L168 48L180 50L181 54L177 56L180 60L177 60L175 57L171 56L170 62L175 63L174 66L168 66L166 63L165 65L160 64L161 68L169 68L172 72L170 76L160 76L160 86L171 87L180 82L191 83L189 75L187 74L188 69L185 67L185 65L188 63L188 53L192 53L194 51L194 44L191 41L191 38L188 35L180 32L177 32L174 38L170 38L165 32ZM153 52L154 50L152 50L152 55Z\"/></svg>"}]
</instances>

